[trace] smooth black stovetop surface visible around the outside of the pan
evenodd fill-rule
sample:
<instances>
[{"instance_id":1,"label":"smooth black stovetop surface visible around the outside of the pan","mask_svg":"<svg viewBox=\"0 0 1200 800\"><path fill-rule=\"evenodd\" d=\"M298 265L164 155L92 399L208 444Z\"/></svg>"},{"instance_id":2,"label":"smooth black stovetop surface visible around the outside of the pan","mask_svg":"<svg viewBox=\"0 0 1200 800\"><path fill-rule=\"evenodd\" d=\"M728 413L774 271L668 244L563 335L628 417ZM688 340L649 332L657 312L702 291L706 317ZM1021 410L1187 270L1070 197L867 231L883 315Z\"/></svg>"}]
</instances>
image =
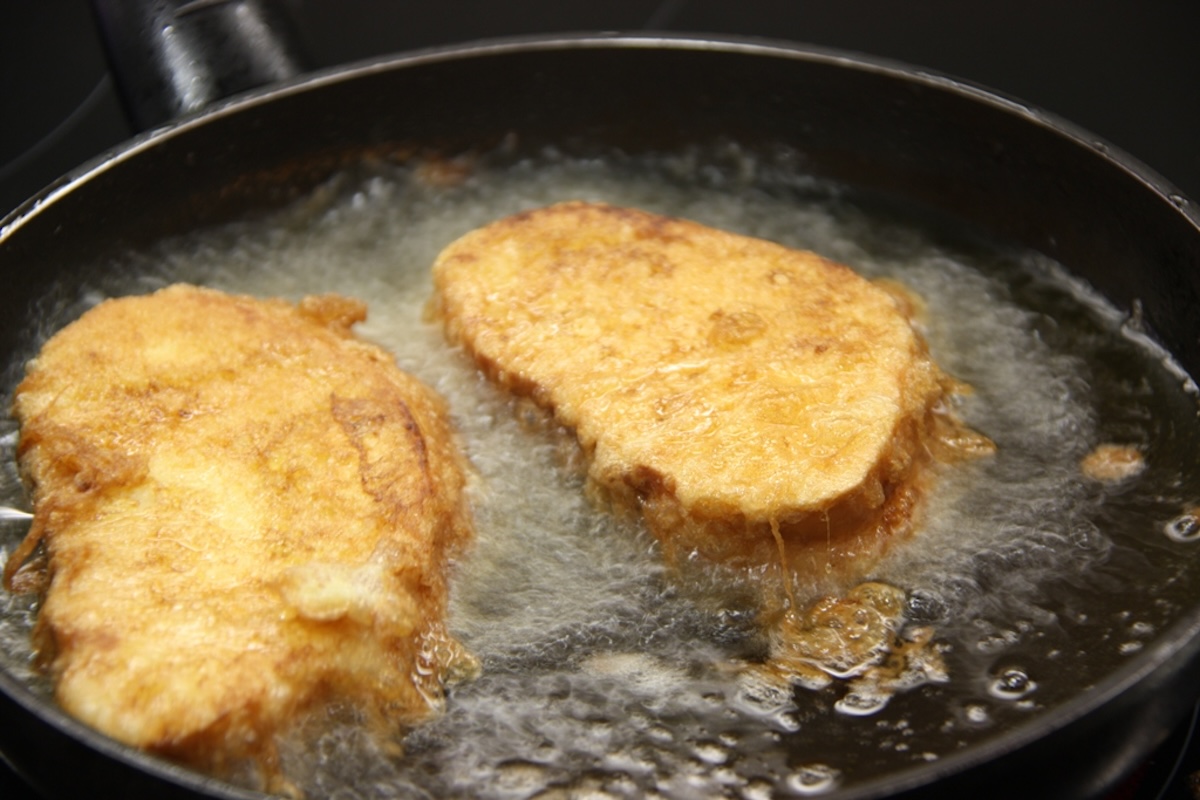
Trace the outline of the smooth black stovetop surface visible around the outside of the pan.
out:
<instances>
[{"instance_id":1,"label":"smooth black stovetop surface visible around the outside of the pan","mask_svg":"<svg viewBox=\"0 0 1200 800\"><path fill-rule=\"evenodd\" d=\"M1200 199L1194 0L277 1L319 66L488 36L586 30L768 36L886 56L1066 118ZM0 8L0 215L131 134L84 0ZM1189 736L1190 726L1181 727L1120 796L1192 798L1183 778L1200 769L1200 747ZM34 796L0 763L0 798Z\"/></svg>"}]
</instances>

